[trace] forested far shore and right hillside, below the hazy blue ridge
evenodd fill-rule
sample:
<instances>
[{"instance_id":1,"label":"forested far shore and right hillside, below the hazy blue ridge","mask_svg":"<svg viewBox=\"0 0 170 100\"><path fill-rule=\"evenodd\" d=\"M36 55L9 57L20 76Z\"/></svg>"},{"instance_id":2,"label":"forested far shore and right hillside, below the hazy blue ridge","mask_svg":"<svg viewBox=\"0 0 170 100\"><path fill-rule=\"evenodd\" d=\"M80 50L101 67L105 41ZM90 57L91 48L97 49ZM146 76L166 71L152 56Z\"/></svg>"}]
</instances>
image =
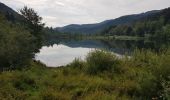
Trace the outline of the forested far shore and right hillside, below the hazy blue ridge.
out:
<instances>
[{"instance_id":1,"label":"forested far shore and right hillside, below the hazy blue ridge","mask_svg":"<svg viewBox=\"0 0 170 100\"><path fill-rule=\"evenodd\" d=\"M57 29L45 28L47 42L51 39L116 39L116 40L169 40L170 8L126 24L108 26L97 33L61 33ZM73 29L74 30L74 29Z\"/></svg>"}]
</instances>

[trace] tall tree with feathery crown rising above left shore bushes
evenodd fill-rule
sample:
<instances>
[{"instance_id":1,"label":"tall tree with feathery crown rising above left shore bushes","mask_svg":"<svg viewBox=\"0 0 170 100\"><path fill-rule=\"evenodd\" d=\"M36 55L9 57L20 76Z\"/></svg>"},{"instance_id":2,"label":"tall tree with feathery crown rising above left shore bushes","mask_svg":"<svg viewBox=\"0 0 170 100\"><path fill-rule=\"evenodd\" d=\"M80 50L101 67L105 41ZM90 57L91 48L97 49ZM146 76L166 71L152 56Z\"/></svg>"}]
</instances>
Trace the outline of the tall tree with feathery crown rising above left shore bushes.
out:
<instances>
[{"instance_id":1,"label":"tall tree with feathery crown rising above left shore bushes","mask_svg":"<svg viewBox=\"0 0 170 100\"><path fill-rule=\"evenodd\" d=\"M36 45L35 52L39 52L42 47L44 38L44 23L42 23L42 17L40 17L37 12L32 8L24 7L20 10L21 15L25 18L23 24L27 27L26 29L36 38L34 44Z\"/></svg>"}]
</instances>

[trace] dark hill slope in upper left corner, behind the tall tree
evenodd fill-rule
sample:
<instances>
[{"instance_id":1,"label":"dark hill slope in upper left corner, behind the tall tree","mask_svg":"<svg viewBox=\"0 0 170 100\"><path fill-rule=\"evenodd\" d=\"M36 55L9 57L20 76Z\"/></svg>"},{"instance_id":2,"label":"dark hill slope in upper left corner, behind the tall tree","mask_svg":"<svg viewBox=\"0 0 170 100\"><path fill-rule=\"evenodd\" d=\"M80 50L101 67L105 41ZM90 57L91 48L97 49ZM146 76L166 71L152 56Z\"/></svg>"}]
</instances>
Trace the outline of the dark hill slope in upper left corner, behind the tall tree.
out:
<instances>
[{"instance_id":1,"label":"dark hill slope in upper left corner, behind the tall tree","mask_svg":"<svg viewBox=\"0 0 170 100\"><path fill-rule=\"evenodd\" d=\"M18 14L16 11L6 6L5 4L0 2L0 13L5 15L5 17L9 20L21 20L23 17Z\"/></svg>"}]
</instances>

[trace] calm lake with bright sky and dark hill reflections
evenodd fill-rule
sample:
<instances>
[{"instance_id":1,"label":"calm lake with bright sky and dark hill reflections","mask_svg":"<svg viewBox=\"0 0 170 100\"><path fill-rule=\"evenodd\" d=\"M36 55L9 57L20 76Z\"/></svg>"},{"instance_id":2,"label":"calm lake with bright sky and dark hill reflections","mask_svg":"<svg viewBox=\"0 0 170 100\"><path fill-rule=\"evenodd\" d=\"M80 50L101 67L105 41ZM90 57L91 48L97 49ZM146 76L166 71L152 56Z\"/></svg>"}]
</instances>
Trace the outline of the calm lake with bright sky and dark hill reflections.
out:
<instances>
[{"instance_id":1,"label":"calm lake with bright sky and dark hill reflections","mask_svg":"<svg viewBox=\"0 0 170 100\"><path fill-rule=\"evenodd\" d=\"M155 48L153 42L146 41L60 41L53 42L40 49L35 59L49 67L64 66L75 58L84 60L90 51L107 49L116 55L130 55L135 48Z\"/></svg>"}]
</instances>

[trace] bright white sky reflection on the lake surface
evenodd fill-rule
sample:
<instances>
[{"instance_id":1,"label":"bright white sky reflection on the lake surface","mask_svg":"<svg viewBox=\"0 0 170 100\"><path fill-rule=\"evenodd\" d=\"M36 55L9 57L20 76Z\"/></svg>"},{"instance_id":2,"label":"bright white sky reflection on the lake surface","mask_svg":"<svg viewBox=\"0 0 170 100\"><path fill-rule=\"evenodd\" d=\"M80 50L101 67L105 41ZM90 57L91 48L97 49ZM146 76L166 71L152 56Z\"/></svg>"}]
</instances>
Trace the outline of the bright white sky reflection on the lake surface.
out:
<instances>
[{"instance_id":1,"label":"bright white sky reflection on the lake surface","mask_svg":"<svg viewBox=\"0 0 170 100\"><path fill-rule=\"evenodd\" d=\"M85 59L85 56L94 48L72 48L63 44L44 46L37 54L36 59L50 67L63 66L71 63L75 58Z\"/></svg>"}]
</instances>

